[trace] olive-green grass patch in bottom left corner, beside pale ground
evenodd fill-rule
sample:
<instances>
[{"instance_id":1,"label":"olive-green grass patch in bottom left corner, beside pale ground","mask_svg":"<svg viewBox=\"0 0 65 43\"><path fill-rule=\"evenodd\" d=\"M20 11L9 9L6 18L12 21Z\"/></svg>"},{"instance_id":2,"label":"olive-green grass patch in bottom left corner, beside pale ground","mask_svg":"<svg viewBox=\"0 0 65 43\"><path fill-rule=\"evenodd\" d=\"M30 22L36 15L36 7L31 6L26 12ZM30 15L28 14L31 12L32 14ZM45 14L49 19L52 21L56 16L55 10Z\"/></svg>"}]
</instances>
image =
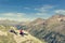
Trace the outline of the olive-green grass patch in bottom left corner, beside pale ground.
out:
<instances>
[{"instance_id":1,"label":"olive-green grass patch in bottom left corner, beside pale ground","mask_svg":"<svg viewBox=\"0 0 65 43\"><path fill-rule=\"evenodd\" d=\"M0 35L0 43L16 43L11 34Z\"/></svg>"}]
</instances>

